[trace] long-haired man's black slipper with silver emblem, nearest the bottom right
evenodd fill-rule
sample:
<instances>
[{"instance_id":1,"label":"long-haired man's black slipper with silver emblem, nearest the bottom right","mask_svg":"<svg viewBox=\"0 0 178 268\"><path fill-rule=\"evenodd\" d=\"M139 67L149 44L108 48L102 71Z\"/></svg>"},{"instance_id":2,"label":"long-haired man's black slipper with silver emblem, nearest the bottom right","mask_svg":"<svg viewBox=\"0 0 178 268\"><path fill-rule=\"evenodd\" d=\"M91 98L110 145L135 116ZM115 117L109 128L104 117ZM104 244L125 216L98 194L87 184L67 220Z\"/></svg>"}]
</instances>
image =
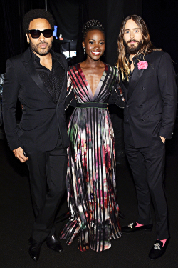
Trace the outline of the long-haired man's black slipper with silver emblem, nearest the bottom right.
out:
<instances>
[{"instance_id":1,"label":"long-haired man's black slipper with silver emblem, nearest the bottom right","mask_svg":"<svg viewBox=\"0 0 178 268\"><path fill-rule=\"evenodd\" d=\"M156 240L155 244L152 246L152 249L150 250L149 258L157 259L161 257L166 252L168 243L169 239L167 239L167 241L164 244L164 247L162 247L163 243L160 240Z\"/></svg>"}]
</instances>

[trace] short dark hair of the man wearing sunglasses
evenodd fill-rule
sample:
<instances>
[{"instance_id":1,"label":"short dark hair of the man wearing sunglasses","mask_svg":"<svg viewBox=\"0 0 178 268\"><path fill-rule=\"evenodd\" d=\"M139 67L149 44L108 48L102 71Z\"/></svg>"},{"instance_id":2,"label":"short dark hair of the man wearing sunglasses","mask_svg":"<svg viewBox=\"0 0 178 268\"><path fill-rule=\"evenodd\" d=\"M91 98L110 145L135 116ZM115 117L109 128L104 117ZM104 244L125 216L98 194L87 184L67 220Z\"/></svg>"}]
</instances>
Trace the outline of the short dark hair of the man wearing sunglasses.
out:
<instances>
[{"instance_id":1,"label":"short dark hair of the man wearing sunglasses","mask_svg":"<svg viewBox=\"0 0 178 268\"><path fill-rule=\"evenodd\" d=\"M51 25L51 29L54 30L54 19L50 12L45 9L31 9L23 18L23 31L27 33L29 25L33 19L46 19Z\"/></svg>"}]
</instances>

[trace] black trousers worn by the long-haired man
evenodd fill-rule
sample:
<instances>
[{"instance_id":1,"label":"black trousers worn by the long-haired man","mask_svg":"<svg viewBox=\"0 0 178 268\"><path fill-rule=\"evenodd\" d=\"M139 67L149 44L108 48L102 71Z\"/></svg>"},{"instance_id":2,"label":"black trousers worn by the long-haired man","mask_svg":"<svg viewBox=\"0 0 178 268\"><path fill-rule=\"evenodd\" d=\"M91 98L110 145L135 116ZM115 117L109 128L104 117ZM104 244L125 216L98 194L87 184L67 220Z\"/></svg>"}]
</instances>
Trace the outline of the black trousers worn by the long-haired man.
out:
<instances>
[{"instance_id":1,"label":"black trousers worn by the long-haired man","mask_svg":"<svg viewBox=\"0 0 178 268\"><path fill-rule=\"evenodd\" d=\"M165 145L158 139L150 147L135 148L125 144L125 152L132 169L137 192L137 222L151 224L151 199L155 209L157 239L169 237L167 220L167 202L164 195L164 159Z\"/></svg>"}]
</instances>

